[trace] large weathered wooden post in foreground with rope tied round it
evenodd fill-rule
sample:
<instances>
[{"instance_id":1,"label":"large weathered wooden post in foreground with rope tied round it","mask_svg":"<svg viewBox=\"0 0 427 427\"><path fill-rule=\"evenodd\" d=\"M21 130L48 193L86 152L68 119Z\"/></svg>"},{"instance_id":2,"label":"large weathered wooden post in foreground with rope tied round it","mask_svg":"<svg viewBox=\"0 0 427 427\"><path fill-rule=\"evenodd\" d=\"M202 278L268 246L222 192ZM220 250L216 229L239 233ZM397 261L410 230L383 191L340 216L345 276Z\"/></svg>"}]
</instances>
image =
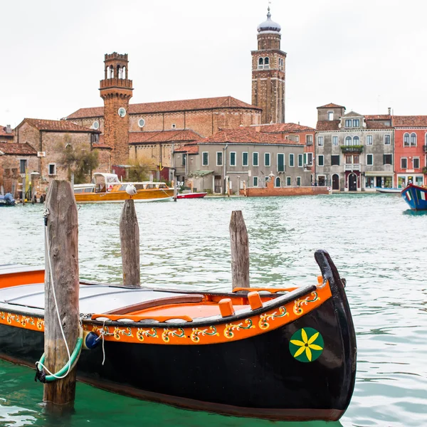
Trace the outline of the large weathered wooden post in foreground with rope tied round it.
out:
<instances>
[{"instance_id":1,"label":"large weathered wooden post in foreground with rope tied round it","mask_svg":"<svg viewBox=\"0 0 427 427\"><path fill-rule=\"evenodd\" d=\"M51 182L46 197L45 215L44 352L46 367L55 373L68 363L68 353L60 325L63 327L70 354L75 348L80 327L78 215L69 181ZM43 401L46 402L48 412L72 411L74 398L75 369L72 369L65 378L47 382L43 386Z\"/></svg>"}]
</instances>

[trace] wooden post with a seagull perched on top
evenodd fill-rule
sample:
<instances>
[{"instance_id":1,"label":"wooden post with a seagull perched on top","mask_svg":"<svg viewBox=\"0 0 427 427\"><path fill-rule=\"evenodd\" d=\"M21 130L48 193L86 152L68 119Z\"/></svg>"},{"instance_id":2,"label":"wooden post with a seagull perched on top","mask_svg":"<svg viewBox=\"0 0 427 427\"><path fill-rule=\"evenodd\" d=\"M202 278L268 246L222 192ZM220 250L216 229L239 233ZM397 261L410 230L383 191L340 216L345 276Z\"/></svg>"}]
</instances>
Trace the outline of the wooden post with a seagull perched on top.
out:
<instances>
[{"instance_id":1,"label":"wooden post with a seagull perched on top","mask_svg":"<svg viewBox=\"0 0 427 427\"><path fill-rule=\"evenodd\" d=\"M139 226L135 204L125 200L120 216L120 246L122 248L123 285L139 288Z\"/></svg>"}]
</instances>

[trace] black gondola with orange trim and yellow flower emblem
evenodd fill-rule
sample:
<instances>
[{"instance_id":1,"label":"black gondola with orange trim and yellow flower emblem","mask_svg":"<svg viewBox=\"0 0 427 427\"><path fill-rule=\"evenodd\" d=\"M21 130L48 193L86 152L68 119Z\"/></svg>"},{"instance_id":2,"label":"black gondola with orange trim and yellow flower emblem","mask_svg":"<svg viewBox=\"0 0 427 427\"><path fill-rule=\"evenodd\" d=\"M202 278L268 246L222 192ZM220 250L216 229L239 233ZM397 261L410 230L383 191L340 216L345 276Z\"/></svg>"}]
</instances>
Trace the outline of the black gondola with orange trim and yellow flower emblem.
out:
<instances>
[{"instance_id":1,"label":"black gondola with orange trim and yellow flower emblem","mask_svg":"<svg viewBox=\"0 0 427 427\"><path fill-rule=\"evenodd\" d=\"M326 251L315 260L317 280L280 289L185 292L80 280L83 336L100 344L81 352L78 379L194 410L338 420L352 397L357 345L345 282ZM43 280L43 270L0 268L0 358L31 367L40 359Z\"/></svg>"}]
</instances>

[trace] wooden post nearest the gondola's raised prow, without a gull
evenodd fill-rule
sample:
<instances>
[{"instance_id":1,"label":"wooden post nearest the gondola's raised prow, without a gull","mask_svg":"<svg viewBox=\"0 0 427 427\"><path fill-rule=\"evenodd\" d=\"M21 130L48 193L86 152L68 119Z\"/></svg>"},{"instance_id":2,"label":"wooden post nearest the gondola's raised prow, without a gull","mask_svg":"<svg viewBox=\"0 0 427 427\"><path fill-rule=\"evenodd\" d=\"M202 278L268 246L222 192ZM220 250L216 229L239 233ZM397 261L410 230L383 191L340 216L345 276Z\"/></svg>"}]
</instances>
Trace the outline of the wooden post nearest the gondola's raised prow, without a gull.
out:
<instances>
[{"instance_id":1,"label":"wooden post nearest the gondola's raised prow, without a gull","mask_svg":"<svg viewBox=\"0 0 427 427\"><path fill-rule=\"evenodd\" d=\"M231 278L234 288L250 288L249 241L242 211L231 212Z\"/></svg>"}]
</instances>

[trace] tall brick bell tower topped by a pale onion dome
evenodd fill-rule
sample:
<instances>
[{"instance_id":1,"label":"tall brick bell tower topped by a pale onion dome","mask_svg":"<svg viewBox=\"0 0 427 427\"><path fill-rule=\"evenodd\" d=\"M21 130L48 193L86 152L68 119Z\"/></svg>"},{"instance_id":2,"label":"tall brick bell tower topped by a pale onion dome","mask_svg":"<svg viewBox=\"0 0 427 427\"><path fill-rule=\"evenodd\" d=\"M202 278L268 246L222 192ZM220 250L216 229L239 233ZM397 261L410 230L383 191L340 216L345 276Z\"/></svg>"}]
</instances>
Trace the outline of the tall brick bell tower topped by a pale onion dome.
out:
<instances>
[{"instance_id":1,"label":"tall brick bell tower topped by a pale onion dome","mask_svg":"<svg viewBox=\"0 0 427 427\"><path fill-rule=\"evenodd\" d=\"M280 25L271 20L258 26L258 51L252 51L252 105L263 109L261 123L285 122L285 60L280 51Z\"/></svg>"}]
</instances>

